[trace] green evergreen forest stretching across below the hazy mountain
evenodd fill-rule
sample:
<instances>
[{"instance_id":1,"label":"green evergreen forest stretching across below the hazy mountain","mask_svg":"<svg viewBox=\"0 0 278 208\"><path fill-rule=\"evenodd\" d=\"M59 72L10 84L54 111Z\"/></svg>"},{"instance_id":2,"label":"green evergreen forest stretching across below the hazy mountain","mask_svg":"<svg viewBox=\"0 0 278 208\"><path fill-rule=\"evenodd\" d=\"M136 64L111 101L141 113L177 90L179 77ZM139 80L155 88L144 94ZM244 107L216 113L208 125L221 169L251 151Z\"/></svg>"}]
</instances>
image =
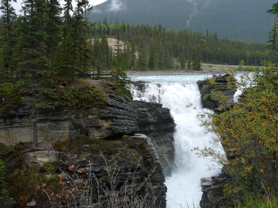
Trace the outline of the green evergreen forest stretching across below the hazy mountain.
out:
<instances>
[{"instance_id":1,"label":"green evergreen forest stretching across below the hazy mountain","mask_svg":"<svg viewBox=\"0 0 278 208\"><path fill-rule=\"evenodd\" d=\"M99 78L113 69L116 54L125 70L190 69L201 63L260 65L265 43L220 38L217 33L169 30L161 24L91 23L87 1L24 1L16 14L10 1L2 1L0 76L5 80L26 75ZM107 38L123 41L112 49ZM39 67L38 67L39 66ZM200 70L200 68L193 68Z\"/></svg>"}]
</instances>

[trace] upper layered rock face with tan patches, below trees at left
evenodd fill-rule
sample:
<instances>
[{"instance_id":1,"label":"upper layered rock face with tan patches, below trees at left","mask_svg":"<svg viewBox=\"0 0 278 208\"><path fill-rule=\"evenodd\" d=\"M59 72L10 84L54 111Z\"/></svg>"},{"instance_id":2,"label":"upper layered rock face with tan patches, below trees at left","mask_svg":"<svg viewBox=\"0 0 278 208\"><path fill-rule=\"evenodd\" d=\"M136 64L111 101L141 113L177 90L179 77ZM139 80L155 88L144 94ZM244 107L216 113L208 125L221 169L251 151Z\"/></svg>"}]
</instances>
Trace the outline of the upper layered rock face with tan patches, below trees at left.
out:
<instances>
[{"instance_id":1,"label":"upper layered rock face with tan patches, below trees at left","mask_svg":"<svg viewBox=\"0 0 278 208\"><path fill-rule=\"evenodd\" d=\"M89 137L107 138L123 136L138 130L133 102L116 94L109 82L88 82L93 82L89 84L96 85L104 91L109 104L101 108L79 109L73 113L61 109L38 111L38 142L66 141L78 133ZM4 144L32 142L33 126L23 124L31 119L32 111L24 106L0 117L0 141Z\"/></svg>"}]
</instances>

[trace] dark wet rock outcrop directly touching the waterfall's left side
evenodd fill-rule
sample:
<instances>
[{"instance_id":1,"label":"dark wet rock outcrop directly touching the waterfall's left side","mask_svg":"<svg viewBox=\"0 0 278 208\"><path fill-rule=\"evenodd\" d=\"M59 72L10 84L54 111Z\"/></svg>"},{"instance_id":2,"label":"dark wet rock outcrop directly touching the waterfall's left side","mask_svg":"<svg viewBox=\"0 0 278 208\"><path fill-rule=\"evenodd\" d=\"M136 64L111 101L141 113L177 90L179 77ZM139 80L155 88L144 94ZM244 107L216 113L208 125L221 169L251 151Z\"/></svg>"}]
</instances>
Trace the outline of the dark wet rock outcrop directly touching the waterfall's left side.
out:
<instances>
[{"instance_id":1,"label":"dark wet rock outcrop directly touching the waterfall's left side","mask_svg":"<svg viewBox=\"0 0 278 208\"><path fill-rule=\"evenodd\" d=\"M176 123L171 116L170 109L162 108L162 104L154 102L134 101L138 116L138 133L144 133L154 143L163 172L171 174L174 160L174 127Z\"/></svg>"}]
</instances>

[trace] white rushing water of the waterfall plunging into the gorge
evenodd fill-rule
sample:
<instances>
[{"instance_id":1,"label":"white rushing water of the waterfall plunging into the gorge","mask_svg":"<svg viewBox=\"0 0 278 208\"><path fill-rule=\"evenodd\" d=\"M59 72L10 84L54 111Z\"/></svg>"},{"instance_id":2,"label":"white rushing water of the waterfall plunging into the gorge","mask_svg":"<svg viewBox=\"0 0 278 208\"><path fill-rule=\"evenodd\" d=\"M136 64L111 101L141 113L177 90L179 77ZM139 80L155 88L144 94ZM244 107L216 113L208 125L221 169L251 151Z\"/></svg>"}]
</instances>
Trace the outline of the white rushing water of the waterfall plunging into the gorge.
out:
<instances>
[{"instance_id":1,"label":"white rushing water of the waterfall plunging into the gorge","mask_svg":"<svg viewBox=\"0 0 278 208\"><path fill-rule=\"evenodd\" d=\"M172 176L166 177L167 208L198 207L201 200L202 177L217 175L217 171L207 171L207 161L197 158L193 147L213 147L212 135L205 134L198 113L192 108L186 108L189 103L202 109L200 92L196 81L204 79L204 75L136 77L133 80L152 81L147 83L142 94L134 89L134 100L159 102L169 108L177 124L174 133L175 169ZM180 206L181 205L181 206Z\"/></svg>"}]
</instances>

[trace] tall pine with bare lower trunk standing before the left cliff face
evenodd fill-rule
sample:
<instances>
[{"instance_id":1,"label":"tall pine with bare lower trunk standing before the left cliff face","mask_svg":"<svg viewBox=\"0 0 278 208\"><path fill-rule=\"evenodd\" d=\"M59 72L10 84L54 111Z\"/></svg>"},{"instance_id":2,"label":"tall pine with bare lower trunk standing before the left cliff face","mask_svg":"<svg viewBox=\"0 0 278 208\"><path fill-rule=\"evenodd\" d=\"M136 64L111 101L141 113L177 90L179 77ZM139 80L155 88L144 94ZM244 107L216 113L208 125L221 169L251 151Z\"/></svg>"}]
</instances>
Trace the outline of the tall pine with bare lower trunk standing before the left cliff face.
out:
<instances>
[{"instance_id":1,"label":"tall pine with bare lower trunk standing before the left cliff face","mask_svg":"<svg viewBox=\"0 0 278 208\"><path fill-rule=\"evenodd\" d=\"M46 2L41 0L24 0L21 19L20 36L18 38L18 50L20 50L21 79L25 89L30 94L25 97L33 110L33 144L30 151L37 148L37 109L53 109L54 104L44 100L43 95L51 94L49 80L53 73L50 71L50 62L46 52L48 23ZM40 95L40 96L38 96Z\"/></svg>"}]
</instances>

